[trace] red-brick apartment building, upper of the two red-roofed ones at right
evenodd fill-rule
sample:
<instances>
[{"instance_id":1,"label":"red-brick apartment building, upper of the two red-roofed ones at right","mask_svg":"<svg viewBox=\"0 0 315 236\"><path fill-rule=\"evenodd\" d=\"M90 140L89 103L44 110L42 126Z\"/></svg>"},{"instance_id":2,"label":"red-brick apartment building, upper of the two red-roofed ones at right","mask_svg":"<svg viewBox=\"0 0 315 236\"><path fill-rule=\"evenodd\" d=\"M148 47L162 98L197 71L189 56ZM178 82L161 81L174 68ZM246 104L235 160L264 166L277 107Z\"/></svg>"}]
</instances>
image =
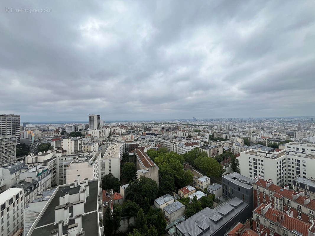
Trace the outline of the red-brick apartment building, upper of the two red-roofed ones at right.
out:
<instances>
[{"instance_id":1,"label":"red-brick apartment building, upper of the two red-roofed ones at right","mask_svg":"<svg viewBox=\"0 0 315 236\"><path fill-rule=\"evenodd\" d=\"M303 222L312 222L315 212L315 200L303 191L289 190L289 186L279 187L272 180L263 180L259 176L254 179L254 208L270 202L271 207L286 212Z\"/></svg>"}]
</instances>

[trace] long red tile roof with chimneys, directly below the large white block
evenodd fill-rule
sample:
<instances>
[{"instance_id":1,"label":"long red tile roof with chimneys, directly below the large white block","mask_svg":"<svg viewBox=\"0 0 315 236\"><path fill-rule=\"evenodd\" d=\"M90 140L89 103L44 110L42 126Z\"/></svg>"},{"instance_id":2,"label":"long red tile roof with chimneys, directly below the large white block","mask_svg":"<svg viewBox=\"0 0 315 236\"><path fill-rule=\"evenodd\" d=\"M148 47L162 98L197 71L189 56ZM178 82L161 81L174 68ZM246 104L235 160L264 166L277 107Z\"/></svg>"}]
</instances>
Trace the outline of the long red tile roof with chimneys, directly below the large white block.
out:
<instances>
[{"instance_id":1,"label":"long red tile roof with chimneys, directly below the large white block","mask_svg":"<svg viewBox=\"0 0 315 236\"><path fill-rule=\"evenodd\" d=\"M310 199L310 202L308 204L304 204L304 199L308 198L307 196L304 196L304 193L301 193L301 195L297 199L293 199L292 194L296 194L294 190L288 190L275 184L271 184L269 187L266 187L266 181L263 179L258 179L258 181L254 184L272 191L274 193L273 195L277 198L282 198L283 196L300 205L304 205L309 209L315 210L315 200Z\"/></svg>"}]
</instances>

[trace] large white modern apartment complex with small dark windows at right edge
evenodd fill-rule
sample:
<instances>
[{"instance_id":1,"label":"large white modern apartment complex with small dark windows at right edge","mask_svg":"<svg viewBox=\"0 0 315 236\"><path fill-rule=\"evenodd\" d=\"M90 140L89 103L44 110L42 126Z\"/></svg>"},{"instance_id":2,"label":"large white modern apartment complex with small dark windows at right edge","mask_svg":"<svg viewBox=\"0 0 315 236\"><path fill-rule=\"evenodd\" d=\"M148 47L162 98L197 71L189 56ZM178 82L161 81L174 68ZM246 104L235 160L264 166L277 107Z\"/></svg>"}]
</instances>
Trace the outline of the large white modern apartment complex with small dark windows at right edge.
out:
<instances>
[{"instance_id":1,"label":"large white modern apartment complex with small dark windows at right edge","mask_svg":"<svg viewBox=\"0 0 315 236\"><path fill-rule=\"evenodd\" d=\"M286 143L279 152L251 149L242 152L238 160L242 175L249 178L261 175L277 185L292 185L295 176L315 177L315 145L311 143Z\"/></svg>"}]
</instances>

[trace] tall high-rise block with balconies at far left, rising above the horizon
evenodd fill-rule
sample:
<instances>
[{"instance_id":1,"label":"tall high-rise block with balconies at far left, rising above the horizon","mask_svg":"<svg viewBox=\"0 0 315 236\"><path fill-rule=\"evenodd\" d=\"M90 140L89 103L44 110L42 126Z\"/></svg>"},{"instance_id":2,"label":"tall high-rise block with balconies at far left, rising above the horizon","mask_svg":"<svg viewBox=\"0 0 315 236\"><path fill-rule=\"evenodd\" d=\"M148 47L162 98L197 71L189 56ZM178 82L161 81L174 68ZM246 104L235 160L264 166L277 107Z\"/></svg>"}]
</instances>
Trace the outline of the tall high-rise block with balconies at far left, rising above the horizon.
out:
<instances>
[{"instance_id":1,"label":"tall high-rise block with balconies at far left, rising above the horizon","mask_svg":"<svg viewBox=\"0 0 315 236\"><path fill-rule=\"evenodd\" d=\"M16 137L16 145L20 144L20 115L0 115L0 136Z\"/></svg>"}]
</instances>

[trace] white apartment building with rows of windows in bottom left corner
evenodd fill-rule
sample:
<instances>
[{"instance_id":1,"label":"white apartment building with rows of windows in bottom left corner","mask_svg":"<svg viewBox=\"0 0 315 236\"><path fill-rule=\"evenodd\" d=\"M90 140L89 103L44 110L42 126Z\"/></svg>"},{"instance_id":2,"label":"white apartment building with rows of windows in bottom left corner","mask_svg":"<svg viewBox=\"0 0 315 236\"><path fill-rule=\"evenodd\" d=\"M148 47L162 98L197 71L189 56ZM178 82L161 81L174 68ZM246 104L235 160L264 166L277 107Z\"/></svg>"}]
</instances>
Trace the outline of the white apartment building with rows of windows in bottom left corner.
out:
<instances>
[{"instance_id":1,"label":"white apartment building with rows of windows in bottom left corner","mask_svg":"<svg viewBox=\"0 0 315 236\"><path fill-rule=\"evenodd\" d=\"M1 236L12 236L23 229L24 191L9 188L0 194ZM19 231L19 232L18 232Z\"/></svg>"}]
</instances>

